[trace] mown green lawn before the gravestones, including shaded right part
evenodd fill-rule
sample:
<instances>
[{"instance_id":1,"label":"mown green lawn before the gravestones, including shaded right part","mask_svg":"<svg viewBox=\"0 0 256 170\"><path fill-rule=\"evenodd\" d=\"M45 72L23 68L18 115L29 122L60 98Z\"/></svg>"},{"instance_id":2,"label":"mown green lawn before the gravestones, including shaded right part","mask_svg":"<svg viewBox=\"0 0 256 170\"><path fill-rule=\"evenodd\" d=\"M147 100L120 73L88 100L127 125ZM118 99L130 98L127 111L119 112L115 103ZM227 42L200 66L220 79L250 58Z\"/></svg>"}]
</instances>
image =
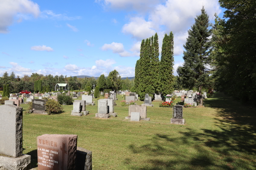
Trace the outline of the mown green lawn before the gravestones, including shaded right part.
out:
<instances>
[{"instance_id":1,"label":"mown green lawn before the gravestones, including shaded right part","mask_svg":"<svg viewBox=\"0 0 256 170\"><path fill-rule=\"evenodd\" d=\"M95 118L97 100L81 117L70 115L73 105L56 115L25 114L28 105L21 105L23 154L31 155L31 168L37 167L37 136L76 134L77 146L92 151L93 170L256 169L255 108L215 93L204 100L205 107L183 108L185 125L171 125L172 108L152 102L154 107L147 108L151 121L130 122L121 100L118 95L118 116L110 119Z\"/></svg>"}]
</instances>

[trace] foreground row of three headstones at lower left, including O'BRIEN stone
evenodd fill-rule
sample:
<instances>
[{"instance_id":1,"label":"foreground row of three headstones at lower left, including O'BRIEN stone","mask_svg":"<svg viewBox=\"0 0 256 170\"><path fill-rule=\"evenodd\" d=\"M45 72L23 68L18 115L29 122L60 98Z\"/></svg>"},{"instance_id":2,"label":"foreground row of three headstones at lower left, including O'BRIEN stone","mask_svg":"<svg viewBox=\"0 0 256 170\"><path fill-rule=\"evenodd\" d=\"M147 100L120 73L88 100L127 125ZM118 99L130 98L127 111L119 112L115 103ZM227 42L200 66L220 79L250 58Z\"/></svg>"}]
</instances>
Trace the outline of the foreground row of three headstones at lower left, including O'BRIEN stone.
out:
<instances>
[{"instance_id":1,"label":"foreground row of three headstones at lower left, including O'BRIEN stone","mask_svg":"<svg viewBox=\"0 0 256 170\"><path fill-rule=\"evenodd\" d=\"M0 106L0 169L28 170L31 156L23 150L23 108ZM92 152L77 147L77 135L37 137L38 170L92 170Z\"/></svg>"}]
</instances>

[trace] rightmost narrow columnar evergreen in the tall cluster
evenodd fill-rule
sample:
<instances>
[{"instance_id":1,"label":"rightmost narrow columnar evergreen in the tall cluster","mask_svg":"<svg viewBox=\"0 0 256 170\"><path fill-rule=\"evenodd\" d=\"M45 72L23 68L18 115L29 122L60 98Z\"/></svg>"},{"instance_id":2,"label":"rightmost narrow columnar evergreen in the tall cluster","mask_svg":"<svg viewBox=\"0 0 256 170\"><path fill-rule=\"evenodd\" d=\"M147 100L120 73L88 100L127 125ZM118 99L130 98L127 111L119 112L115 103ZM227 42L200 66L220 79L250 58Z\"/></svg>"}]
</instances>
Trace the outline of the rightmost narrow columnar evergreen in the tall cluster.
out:
<instances>
[{"instance_id":1,"label":"rightmost narrow columnar evergreen in the tall cluster","mask_svg":"<svg viewBox=\"0 0 256 170\"><path fill-rule=\"evenodd\" d=\"M172 94L174 87L173 76L173 34L170 32L169 36L165 34L162 45L162 55L160 61L160 93L163 96Z\"/></svg>"}]
</instances>

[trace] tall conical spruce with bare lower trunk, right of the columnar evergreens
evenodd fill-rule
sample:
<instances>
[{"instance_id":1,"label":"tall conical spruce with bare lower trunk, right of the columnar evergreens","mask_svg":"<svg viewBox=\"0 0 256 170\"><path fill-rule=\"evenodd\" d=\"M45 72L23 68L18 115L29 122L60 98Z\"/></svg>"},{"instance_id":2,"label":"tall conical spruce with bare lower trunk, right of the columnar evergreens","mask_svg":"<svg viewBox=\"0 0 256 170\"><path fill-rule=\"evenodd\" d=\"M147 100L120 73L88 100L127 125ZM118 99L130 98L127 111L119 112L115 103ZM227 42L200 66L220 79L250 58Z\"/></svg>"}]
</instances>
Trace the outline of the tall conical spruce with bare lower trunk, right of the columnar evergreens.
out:
<instances>
[{"instance_id":1,"label":"tall conical spruce with bare lower trunk, right of the columnar evergreens","mask_svg":"<svg viewBox=\"0 0 256 170\"><path fill-rule=\"evenodd\" d=\"M182 67L178 67L177 73L186 88L198 87L200 105L202 106L201 93L202 88L207 87L209 82L209 69L206 66L211 63L209 54L212 51L209 41L211 35L209 17L204 7L201 9L201 14L195 18L195 24L189 29L188 33L189 36L183 52L184 64Z\"/></svg>"}]
</instances>

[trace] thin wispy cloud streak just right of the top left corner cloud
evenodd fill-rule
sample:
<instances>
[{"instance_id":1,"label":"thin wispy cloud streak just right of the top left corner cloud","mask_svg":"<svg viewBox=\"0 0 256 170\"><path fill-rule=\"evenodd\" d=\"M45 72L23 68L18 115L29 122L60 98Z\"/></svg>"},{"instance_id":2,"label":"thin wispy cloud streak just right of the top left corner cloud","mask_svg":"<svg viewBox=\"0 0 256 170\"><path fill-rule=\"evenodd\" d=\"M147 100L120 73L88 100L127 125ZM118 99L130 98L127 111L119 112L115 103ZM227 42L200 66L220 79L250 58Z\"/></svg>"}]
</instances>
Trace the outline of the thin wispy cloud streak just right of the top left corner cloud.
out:
<instances>
[{"instance_id":1,"label":"thin wispy cloud streak just right of the top left corner cloud","mask_svg":"<svg viewBox=\"0 0 256 170\"><path fill-rule=\"evenodd\" d=\"M51 19L56 19L56 20L79 20L81 19L80 16L76 17L68 17L67 14L55 14L51 10L45 10L41 13L40 15L42 18L51 18Z\"/></svg>"}]
</instances>

